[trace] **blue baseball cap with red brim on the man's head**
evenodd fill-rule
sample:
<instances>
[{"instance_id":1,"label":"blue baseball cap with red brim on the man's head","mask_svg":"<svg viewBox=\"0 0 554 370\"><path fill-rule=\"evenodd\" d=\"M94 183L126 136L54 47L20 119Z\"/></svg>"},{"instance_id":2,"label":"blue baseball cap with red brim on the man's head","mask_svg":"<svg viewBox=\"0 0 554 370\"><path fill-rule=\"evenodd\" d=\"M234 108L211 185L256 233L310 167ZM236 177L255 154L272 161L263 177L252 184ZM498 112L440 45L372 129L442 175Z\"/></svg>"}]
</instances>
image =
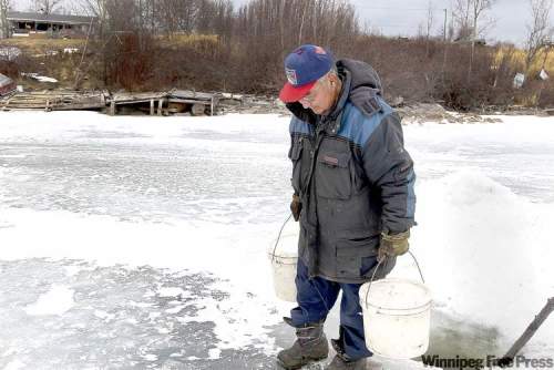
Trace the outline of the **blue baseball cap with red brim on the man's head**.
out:
<instances>
[{"instance_id":1,"label":"blue baseball cap with red brim on the man's head","mask_svg":"<svg viewBox=\"0 0 554 370\"><path fill-rule=\"evenodd\" d=\"M321 47L299 47L285 59L288 82L283 86L279 99L284 103L299 101L309 93L317 80L331 70L334 63L332 55Z\"/></svg>"}]
</instances>

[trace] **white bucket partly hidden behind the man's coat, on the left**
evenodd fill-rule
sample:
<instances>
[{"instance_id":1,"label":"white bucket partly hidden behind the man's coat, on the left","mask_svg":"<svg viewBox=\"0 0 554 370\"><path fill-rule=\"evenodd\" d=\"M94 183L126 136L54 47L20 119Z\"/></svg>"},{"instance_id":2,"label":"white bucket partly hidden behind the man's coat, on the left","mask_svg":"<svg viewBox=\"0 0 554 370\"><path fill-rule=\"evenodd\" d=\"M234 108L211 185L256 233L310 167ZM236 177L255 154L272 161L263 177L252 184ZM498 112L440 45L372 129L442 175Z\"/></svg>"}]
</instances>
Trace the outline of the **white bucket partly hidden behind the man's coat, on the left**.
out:
<instances>
[{"instance_id":1,"label":"white bucket partly hidden behind the man's coat, on the left","mask_svg":"<svg viewBox=\"0 0 554 370\"><path fill-rule=\"evenodd\" d=\"M287 223L279 240L269 249L274 289L277 298L296 302L296 266L298 263L298 235L297 223Z\"/></svg>"}]
</instances>

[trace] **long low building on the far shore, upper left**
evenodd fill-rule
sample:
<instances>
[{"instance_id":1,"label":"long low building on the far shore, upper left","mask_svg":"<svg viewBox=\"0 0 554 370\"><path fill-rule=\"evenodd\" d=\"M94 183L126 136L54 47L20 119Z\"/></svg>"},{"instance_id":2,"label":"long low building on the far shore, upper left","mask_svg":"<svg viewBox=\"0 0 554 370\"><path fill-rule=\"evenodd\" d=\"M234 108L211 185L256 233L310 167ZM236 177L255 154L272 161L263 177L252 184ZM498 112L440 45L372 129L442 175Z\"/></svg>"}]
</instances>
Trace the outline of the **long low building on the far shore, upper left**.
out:
<instances>
[{"instance_id":1,"label":"long low building on the far shore, upper left","mask_svg":"<svg viewBox=\"0 0 554 370\"><path fill-rule=\"evenodd\" d=\"M82 38L94 27L94 18L9 11L10 37Z\"/></svg>"}]
</instances>

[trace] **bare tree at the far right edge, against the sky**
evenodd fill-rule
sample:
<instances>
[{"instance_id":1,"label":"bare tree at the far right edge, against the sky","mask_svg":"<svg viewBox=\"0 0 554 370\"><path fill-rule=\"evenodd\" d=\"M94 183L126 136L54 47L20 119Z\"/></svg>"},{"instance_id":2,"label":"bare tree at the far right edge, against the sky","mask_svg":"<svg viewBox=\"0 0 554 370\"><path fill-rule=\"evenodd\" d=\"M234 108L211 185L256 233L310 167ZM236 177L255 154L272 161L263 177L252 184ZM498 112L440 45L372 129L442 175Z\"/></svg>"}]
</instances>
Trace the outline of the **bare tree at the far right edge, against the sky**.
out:
<instances>
[{"instance_id":1,"label":"bare tree at the far right edge, against the sky","mask_svg":"<svg viewBox=\"0 0 554 370\"><path fill-rule=\"evenodd\" d=\"M527 24L527 39L525 41L525 72L530 72L533 63L543 48L550 47L554 28L550 21L550 14L554 0L529 0L532 20Z\"/></svg>"}]
</instances>

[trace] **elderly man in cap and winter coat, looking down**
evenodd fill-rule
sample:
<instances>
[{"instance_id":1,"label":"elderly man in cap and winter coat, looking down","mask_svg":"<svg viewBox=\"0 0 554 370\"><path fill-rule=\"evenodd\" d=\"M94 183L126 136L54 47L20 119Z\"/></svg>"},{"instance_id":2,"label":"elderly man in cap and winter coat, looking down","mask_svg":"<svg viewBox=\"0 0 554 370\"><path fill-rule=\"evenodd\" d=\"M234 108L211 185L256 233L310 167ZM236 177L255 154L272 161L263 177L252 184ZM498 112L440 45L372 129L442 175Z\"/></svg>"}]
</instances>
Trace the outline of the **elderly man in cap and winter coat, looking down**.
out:
<instances>
[{"instance_id":1,"label":"elderly man in cap and winter coat, looking down","mask_svg":"<svg viewBox=\"0 0 554 370\"><path fill-rule=\"evenodd\" d=\"M294 114L290 208L300 237L298 307L285 318L297 340L278 361L298 369L327 358L324 322L341 290L339 338L331 341L337 356L327 369L365 369L372 353L358 291L373 273L376 279L389 274L408 250L413 163L400 117L383 101L370 65L335 63L328 51L307 44L286 58L285 71L288 82L279 97Z\"/></svg>"}]
</instances>

